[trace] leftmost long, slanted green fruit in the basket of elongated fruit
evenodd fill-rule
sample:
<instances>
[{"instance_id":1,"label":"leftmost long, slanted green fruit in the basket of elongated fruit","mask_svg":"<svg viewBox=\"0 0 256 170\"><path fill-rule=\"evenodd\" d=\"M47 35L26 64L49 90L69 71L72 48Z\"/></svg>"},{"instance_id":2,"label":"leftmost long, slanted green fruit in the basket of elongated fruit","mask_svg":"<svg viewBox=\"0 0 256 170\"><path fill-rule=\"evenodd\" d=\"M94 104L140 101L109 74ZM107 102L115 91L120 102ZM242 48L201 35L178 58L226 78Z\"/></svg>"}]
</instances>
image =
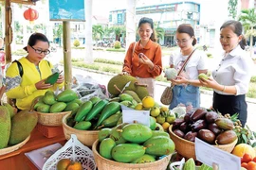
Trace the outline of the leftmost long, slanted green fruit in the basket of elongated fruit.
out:
<instances>
[{"instance_id":1,"label":"leftmost long, slanted green fruit in the basket of elongated fruit","mask_svg":"<svg viewBox=\"0 0 256 170\"><path fill-rule=\"evenodd\" d=\"M79 107L79 110L77 111L77 114L75 116L75 121L77 121L77 122L82 121L83 118L86 117L88 112L92 109L92 107L93 107L93 104L90 100L82 103L82 105Z\"/></svg>"}]
</instances>

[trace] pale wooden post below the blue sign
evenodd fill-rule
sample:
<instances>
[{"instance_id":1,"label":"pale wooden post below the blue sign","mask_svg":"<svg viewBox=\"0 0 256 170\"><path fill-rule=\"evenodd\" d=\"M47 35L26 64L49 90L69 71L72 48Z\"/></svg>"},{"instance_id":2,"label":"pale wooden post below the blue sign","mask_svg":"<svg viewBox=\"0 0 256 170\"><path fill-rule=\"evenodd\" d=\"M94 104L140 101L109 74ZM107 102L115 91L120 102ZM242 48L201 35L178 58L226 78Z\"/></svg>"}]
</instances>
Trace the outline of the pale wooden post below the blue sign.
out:
<instances>
[{"instance_id":1,"label":"pale wooden post below the blue sign","mask_svg":"<svg viewBox=\"0 0 256 170\"><path fill-rule=\"evenodd\" d=\"M72 86L72 64L71 64L71 44L70 44L70 23L63 22L64 32L64 89L71 89Z\"/></svg>"}]
</instances>

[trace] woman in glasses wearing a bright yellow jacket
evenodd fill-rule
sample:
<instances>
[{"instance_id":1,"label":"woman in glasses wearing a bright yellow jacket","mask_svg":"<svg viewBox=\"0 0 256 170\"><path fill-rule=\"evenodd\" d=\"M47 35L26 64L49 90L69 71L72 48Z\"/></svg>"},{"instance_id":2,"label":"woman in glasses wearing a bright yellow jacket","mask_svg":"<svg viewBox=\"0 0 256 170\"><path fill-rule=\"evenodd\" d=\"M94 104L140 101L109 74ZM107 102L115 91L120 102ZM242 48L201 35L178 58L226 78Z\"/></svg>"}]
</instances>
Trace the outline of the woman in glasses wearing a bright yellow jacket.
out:
<instances>
[{"instance_id":1,"label":"woman in glasses wearing a bright yellow jacket","mask_svg":"<svg viewBox=\"0 0 256 170\"><path fill-rule=\"evenodd\" d=\"M18 60L23 74L18 62L12 62L6 73L7 96L16 99L18 110L29 110L35 97L54 91L58 86L63 87L64 83L64 76L59 76L54 85L45 83L46 77L53 74L53 66L45 59L50 51L44 34L32 34L24 49L27 57Z\"/></svg>"}]
</instances>

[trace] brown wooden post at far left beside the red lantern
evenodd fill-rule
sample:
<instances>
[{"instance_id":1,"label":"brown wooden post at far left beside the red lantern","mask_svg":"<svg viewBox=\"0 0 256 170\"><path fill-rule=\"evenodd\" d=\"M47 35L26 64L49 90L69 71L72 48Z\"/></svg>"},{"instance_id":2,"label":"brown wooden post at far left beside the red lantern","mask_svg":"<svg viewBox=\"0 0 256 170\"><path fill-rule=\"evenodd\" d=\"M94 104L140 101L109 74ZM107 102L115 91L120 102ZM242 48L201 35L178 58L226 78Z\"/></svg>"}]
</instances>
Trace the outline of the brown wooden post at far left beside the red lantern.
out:
<instances>
[{"instance_id":1,"label":"brown wooden post at far left beside the red lantern","mask_svg":"<svg viewBox=\"0 0 256 170\"><path fill-rule=\"evenodd\" d=\"M5 52L6 52L6 62L11 62L11 49L10 43L12 42L12 28L11 28L11 8L10 0L5 0L6 8L6 21L5 21Z\"/></svg>"}]
</instances>

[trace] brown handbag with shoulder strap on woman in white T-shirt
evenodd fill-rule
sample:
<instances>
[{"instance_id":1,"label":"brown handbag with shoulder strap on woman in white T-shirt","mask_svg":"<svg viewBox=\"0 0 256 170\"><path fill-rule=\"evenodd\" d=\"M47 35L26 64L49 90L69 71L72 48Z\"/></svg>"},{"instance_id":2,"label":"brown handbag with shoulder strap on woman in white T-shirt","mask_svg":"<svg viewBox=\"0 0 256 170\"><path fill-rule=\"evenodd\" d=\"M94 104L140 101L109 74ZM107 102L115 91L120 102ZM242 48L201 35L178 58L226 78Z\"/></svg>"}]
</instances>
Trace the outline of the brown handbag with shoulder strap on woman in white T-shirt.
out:
<instances>
[{"instance_id":1,"label":"brown handbag with shoulder strap on woman in white T-shirt","mask_svg":"<svg viewBox=\"0 0 256 170\"><path fill-rule=\"evenodd\" d=\"M183 71L183 69L186 67L189 59L191 59L193 52L196 50L196 48L194 48L192 50L192 53L190 54L190 56L184 61L184 64L181 66L181 68L179 69L177 76L179 76L181 74L181 72ZM164 105L170 105L172 100L173 100L173 88L174 88L174 84L171 84L171 86L168 86L165 88L165 90L163 91L160 101L162 104Z\"/></svg>"}]
</instances>

